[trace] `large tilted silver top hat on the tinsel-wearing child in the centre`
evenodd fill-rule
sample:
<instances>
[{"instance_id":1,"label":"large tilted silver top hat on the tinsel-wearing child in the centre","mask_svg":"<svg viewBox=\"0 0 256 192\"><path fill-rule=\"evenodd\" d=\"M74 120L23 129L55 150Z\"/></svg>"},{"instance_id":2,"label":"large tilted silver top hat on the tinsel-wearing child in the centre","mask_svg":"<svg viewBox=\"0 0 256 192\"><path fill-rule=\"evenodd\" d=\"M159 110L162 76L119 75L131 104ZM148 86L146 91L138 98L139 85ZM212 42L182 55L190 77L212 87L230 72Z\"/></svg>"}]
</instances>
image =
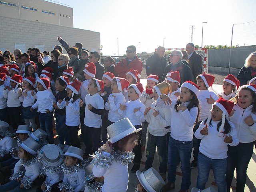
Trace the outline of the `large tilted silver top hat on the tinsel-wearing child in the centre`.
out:
<instances>
[{"instance_id":1,"label":"large tilted silver top hat on the tinsel-wearing child in the centre","mask_svg":"<svg viewBox=\"0 0 256 192\"><path fill-rule=\"evenodd\" d=\"M111 143L115 143L130 134L139 132L140 130L142 130L142 128L136 129L128 118L121 119L107 127Z\"/></svg>"}]
</instances>

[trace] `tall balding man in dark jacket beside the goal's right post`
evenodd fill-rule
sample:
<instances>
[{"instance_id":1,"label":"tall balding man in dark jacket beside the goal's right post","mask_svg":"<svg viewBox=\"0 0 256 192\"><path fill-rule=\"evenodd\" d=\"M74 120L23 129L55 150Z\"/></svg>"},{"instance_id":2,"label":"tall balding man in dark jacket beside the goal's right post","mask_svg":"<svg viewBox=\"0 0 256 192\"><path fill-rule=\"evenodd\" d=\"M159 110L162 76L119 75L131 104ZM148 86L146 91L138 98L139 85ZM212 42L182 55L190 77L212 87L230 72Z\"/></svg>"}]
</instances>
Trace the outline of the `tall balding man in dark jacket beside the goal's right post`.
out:
<instances>
[{"instance_id":1,"label":"tall balding man in dark jacket beside the goal's right post","mask_svg":"<svg viewBox=\"0 0 256 192\"><path fill-rule=\"evenodd\" d=\"M194 82L196 82L196 77L203 72L202 57L195 52L193 43L188 43L186 45L186 51L188 53L188 64L192 70Z\"/></svg>"}]
</instances>

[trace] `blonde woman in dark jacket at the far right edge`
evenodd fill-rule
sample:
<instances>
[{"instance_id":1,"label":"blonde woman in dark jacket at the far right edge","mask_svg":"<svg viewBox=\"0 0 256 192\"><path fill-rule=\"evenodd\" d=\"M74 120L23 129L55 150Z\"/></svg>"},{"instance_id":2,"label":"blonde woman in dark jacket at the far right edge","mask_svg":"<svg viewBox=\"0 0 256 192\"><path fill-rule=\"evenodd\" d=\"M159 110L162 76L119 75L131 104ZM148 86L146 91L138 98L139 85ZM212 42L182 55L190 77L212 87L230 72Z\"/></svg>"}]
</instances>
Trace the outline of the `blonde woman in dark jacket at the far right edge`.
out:
<instances>
[{"instance_id":1,"label":"blonde woman in dark jacket at the far right edge","mask_svg":"<svg viewBox=\"0 0 256 192\"><path fill-rule=\"evenodd\" d=\"M249 81L256 77L256 52L251 53L245 60L244 66L237 75L240 86L249 84Z\"/></svg>"}]
</instances>

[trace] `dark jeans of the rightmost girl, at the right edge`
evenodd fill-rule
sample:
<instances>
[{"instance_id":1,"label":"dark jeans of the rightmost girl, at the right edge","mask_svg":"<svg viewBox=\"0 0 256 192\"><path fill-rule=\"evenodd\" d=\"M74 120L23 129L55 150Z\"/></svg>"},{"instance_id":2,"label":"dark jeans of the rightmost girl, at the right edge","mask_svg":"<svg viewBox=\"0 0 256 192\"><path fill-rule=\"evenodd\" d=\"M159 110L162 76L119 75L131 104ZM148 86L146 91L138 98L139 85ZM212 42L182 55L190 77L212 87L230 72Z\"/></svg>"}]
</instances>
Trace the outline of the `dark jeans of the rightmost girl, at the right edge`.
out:
<instances>
[{"instance_id":1,"label":"dark jeans of the rightmost girl, at the right edge","mask_svg":"<svg viewBox=\"0 0 256 192\"><path fill-rule=\"evenodd\" d=\"M239 143L237 146L228 146L226 182L227 191L230 191L231 182L236 169L236 192L244 191L246 171L253 153L253 142Z\"/></svg>"}]
</instances>

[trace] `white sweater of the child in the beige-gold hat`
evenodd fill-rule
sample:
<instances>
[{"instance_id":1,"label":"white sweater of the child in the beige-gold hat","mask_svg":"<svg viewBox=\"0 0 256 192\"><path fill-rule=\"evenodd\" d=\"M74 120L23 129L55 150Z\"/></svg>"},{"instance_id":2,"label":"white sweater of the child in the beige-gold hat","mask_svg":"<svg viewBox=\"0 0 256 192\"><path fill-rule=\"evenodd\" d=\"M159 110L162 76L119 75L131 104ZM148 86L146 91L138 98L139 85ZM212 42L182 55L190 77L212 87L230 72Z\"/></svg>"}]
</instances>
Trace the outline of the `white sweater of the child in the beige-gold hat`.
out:
<instances>
[{"instance_id":1,"label":"white sweater of the child in the beige-gold hat","mask_svg":"<svg viewBox=\"0 0 256 192\"><path fill-rule=\"evenodd\" d=\"M153 116L154 110L159 111L158 116ZM151 109L148 114L146 114L145 118L148 122L148 131L150 134L154 136L165 136L168 132L168 129L165 127L171 125L171 109L168 108L159 108L156 106L156 101L151 104Z\"/></svg>"}]
</instances>

